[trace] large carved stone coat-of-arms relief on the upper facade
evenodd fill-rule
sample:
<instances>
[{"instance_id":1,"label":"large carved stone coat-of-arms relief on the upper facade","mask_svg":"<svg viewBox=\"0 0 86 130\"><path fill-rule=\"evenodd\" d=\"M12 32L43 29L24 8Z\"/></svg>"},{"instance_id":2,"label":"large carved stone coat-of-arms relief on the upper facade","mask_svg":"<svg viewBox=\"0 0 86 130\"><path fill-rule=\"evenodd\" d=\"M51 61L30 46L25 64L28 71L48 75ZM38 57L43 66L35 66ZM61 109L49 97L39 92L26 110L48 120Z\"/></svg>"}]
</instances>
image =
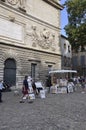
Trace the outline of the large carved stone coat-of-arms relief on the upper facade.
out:
<instances>
[{"instance_id":1,"label":"large carved stone coat-of-arms relief on the upper facade","mask_svg":"<svg viewBox=\"0 0 86 130\"><path fill-rule=\"evenodd\" d=\"M32 46L39 45L43 49L52 49L55 51L55 34L44 28L42 31L37 31L36 26L31 27L31 31L26 31L27 36L32 39Z\"/></svg>"}]
</instances>

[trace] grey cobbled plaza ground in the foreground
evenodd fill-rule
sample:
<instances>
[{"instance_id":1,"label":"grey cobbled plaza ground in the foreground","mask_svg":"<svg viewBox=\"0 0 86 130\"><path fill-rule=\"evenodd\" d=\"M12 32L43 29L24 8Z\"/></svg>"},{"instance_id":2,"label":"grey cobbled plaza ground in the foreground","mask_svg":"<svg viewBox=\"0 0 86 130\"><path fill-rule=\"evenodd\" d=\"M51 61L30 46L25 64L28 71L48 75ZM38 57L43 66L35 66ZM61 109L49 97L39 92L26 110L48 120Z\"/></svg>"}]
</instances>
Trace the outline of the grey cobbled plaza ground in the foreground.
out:
<instances>
[{"instance_id":1,"label":"grey cobbled plaza ground in the foreground","mask_svg":"<svg viewBox=\"0 0 86 130\"><path fill-rule=\"evenodd\" d=\"M47 94L19 103L21 93L3 93L0 130L86 130L86 93Z\"/></svg>"}]
</instances>

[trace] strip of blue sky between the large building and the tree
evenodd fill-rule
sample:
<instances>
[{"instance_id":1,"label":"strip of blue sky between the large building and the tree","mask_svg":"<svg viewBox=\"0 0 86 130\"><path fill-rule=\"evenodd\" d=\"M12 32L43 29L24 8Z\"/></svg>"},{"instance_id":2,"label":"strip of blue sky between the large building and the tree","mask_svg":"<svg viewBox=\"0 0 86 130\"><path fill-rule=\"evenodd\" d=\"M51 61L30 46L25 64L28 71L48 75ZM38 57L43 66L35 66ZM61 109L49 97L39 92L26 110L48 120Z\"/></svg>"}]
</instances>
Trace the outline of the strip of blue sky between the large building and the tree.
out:
<instances>
[{"instance_id":1,"label":"strip of blue sky between the large building and the tree","mask_svg":"<svg viewBox=\"0 0 86 130\"><path fill-rule=\"evenodd\" d=\"M66 0L61 0L61 4L64 4ZM68 19L67 19L67 12L66 12L66 9L64 8L62 11L61 11L61 34L65 35L66 36L66 33L65 33L65 30L64 30L64 27L65 25L68 24Z\"/></svg>"}]
</instances>

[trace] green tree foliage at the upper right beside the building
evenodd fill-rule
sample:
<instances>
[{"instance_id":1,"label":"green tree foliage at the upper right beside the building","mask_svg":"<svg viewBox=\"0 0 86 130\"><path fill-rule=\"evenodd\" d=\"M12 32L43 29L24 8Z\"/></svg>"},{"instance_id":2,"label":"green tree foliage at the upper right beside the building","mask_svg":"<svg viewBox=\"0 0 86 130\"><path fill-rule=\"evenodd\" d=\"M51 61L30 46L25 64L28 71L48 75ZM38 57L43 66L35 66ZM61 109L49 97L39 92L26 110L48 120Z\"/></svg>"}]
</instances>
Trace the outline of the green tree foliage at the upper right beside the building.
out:
<instances>
[{"instance_id":1,"label":"green tree foliage at the upper right beside the building","mask_svg":"<svg viewBox=\"0 0 86 130\"><path fill-rule=\"evenodd\" d=\"M65 31L72 49L77 51L81 47L83 51L86 46L86 0L66 0L64 5L69 21Z\"/></svg>"}]
</instances>

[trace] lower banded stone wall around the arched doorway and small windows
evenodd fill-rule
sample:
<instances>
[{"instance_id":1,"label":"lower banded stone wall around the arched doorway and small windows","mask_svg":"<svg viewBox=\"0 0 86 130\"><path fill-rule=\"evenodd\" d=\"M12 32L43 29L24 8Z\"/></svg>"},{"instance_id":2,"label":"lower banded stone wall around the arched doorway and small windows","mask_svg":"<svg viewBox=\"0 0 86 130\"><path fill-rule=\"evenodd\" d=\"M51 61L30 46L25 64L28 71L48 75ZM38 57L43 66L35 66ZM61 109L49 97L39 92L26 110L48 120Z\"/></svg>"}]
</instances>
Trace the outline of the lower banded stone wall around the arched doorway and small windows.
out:
<instances>
[{"instance_id":1,"label":"lower banded stone wall around the arched doorway and small windows","mask_svg":"<svg viewBox=\"0 0 86 130\"><path fill-rule=\"evenodd\" d=\"M16 85L21 85L25 75L31 75L31 63L37 65L36 80L46 80L48 65L53 69L60 68L60 56L26 48L0 45L0 77L3 79L4 62L12 58L16 61ZM58 62L57 62L58 61Z\"/></svg>"}]
</instances>

